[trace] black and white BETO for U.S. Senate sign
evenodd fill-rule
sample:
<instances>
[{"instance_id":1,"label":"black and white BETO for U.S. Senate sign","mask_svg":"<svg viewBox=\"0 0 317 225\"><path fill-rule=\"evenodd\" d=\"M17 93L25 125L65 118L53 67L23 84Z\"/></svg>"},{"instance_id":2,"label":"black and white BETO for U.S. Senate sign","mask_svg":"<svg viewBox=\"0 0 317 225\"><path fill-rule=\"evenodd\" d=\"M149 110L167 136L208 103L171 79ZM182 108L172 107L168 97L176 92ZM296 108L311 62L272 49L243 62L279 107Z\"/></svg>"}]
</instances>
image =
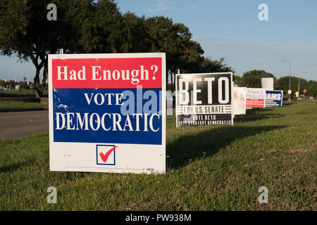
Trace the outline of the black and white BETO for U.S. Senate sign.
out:
<instances>
[{"instance_id":1,"label":"black and white BETO for U.S. Senate sign","mask_svg":"<svg viewBox=\"0 0 317 225\"><path fill-rule=\"evenodd\" d=\"M176 75L176 127L233 124L232 72Z\"/></svg>"}]
</instances>

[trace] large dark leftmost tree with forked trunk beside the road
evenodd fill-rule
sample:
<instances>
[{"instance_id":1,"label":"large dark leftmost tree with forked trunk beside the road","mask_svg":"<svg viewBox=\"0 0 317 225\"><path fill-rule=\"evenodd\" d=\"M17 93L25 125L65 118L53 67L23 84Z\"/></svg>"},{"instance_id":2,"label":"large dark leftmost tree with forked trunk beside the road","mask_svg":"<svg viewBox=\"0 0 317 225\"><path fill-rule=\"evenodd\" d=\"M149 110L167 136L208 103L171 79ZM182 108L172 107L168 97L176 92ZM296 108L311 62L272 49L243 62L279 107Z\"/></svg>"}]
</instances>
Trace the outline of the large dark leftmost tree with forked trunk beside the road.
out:
<instances>
[{"instance_id":1,"label":"large dark leftmost tree with forked trunk beside the road","mask_svg":"<svg viewBox=\"0 0 317 225\"><path fill-rule=\"evenodd\" d=\"M48 1L18 0L4 0L0 3L1 54L16 54L21 61L32 60L36 68L34 81L37 96L42 96L46 82L47 53L54 49L54 42L58 42L51 32L59 28L56 27L57 23L48 23L46 19L48 4ZM40 82L39 72L43 67L43 79Z\"/></svg>"}]
</instances>

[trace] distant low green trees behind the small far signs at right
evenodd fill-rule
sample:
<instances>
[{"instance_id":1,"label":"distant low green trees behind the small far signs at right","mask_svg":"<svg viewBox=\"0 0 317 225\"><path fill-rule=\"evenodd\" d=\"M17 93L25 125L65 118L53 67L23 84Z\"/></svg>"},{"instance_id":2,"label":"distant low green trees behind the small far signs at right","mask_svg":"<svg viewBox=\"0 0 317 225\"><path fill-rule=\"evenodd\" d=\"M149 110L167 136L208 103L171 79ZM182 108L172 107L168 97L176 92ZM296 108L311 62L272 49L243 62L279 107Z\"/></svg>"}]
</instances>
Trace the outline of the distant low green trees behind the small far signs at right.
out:
<instances>
[{"instance_id":1,"label":"distant low green trees behind the small far signs at right","mask_svg":"<svg viewBox=\"0 0 317 225\"><path fill-rule=\"evenodd\" d=\"M317 82L315 80L307 81L304 78L291 76L291 81L289 76L276 78L270 72L264 70L251 70L244 72L242 77L235 75L234 82L238 86L247 86L250 88L261 88L261 78L262 77L273 77L274 89L283 90L286 95L291 82L292 95L298 91L299 83L299 94L304 94L303 90L306 89L306 96L317 96Z\"/></svg>"}]
</instances>

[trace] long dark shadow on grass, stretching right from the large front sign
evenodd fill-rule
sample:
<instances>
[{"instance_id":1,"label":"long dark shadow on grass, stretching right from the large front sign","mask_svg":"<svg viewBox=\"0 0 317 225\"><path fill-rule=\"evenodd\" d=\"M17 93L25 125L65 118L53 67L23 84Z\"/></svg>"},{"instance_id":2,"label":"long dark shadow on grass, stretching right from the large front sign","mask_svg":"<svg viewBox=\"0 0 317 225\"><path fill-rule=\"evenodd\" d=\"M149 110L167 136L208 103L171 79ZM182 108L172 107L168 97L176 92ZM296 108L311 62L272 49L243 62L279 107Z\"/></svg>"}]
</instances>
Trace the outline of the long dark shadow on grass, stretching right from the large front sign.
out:
<instances>
[{"instance_id":1,"label":"long dark shadow on grass, stretching right from the large front sign","mask_svg":"<svg viewBox=\"0 0 317 225\"><path fill-rule=\"evenodd\" d=\"M201 131L195 135L184 135L174 139L166 145L167 167L178 169L189 164L190 160L212 156L228 146L232 141L254 136L263 132L282 129L286 126L263 126L263 127L219 127ZM186 129L194 129L192 127Z\"/></svg>"}]
</instances>

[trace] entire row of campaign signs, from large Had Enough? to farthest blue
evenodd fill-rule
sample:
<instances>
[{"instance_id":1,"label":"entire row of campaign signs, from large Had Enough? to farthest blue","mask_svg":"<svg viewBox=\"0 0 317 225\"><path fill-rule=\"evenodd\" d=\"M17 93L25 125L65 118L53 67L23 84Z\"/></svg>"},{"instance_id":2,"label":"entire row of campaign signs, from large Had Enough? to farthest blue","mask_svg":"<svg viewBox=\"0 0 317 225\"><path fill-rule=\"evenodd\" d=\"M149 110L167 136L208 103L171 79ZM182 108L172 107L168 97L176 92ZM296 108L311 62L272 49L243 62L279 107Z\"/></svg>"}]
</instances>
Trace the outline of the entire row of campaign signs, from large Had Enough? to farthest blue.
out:
<instances>
[{"instance_id":1,"label":"entire row of campaign signs, from large Had Enough? to farthest blue","mask_svg":"<svg viewBox=\"0 0 317 225\"><path fill-rule=\"evenodd\" d=\"M232 72L176 75L176 126L233 125L282 91L236 88ZM165 53L49 55L51 171L166 171Z\"/></svg>"}]
</instances>

